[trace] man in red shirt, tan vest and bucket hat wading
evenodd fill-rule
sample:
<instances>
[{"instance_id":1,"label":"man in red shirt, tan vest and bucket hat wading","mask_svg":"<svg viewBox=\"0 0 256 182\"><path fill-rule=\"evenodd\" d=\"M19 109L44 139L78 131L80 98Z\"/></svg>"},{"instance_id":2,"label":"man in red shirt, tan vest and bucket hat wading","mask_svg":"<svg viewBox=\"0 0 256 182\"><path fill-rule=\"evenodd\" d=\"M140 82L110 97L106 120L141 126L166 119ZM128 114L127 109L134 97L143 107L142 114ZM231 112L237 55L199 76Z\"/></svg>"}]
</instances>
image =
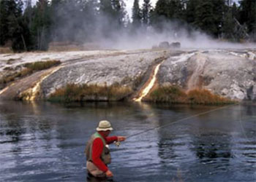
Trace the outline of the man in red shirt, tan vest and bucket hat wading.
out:
<instances>
[{"instance_id":1,"label":"man in red shirt, tan vest and bucket hat wading","mask_svg":"<svg viewBox=\"0 0 256 182\"><path fill-rule=\"evenodd\" d=\"M108 164L111 162L110 150L107 144L114 141L125 141L124 136L108 137L110 131L113 130L110 122L100 121L97 127L97 132L91 135L90 140L86 145L86 168L88 175L97 178L113 177L113 173L108 169Z\"/></svg>"}]
</instances>

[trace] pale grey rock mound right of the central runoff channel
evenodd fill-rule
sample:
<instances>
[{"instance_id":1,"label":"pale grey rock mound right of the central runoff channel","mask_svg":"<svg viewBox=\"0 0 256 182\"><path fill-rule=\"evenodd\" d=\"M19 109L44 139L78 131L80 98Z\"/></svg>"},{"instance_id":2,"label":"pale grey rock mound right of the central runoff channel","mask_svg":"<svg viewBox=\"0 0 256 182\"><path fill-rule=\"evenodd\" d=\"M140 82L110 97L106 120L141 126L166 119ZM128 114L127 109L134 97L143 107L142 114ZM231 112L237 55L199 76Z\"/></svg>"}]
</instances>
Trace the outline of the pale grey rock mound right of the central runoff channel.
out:
<instances>
[{"instance_id":1,"label":"pale grey rock mound right of the central runoff channel","mask_svg":"<svg viewBox=\"0 0 256 182\"><path fill-rule=\"evenodd\" d=\"M256 100L256 59L253 50L191 51L168 58L159 84L185 90L208 89L226 98Z\"/></svg>"}]
</instances>

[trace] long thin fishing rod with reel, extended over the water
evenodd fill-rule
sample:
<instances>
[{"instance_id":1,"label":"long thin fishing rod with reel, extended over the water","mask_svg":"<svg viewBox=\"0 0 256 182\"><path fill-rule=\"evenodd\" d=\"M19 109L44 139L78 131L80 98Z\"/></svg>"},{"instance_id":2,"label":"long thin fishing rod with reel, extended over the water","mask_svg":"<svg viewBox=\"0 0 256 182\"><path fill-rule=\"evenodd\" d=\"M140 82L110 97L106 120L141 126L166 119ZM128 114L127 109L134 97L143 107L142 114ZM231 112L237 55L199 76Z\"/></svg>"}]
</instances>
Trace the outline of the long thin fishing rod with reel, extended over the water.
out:
<instances>
[{"instance_id":1,"label":"long thin fishing rod with reel, extended over the water","mask_svg":"<svg viewBox=\"0 0 256 182\"><path fill-rule=\"evenodd\" d=\"M132 137L135 137L135 136L138 136L138 135L142 135L144 132L148 132L148 131L151 131L151 130L158 130L159 128L162 128L162 127L167 127L167 126L170 126L170 125L172 125L172 124L176 124L176 123L178 123L178 122L185 121L185 120L187 120L187 119L192 119L192 118L194 118L194 117L196 117L196 116L202 116L202 115L204 115L204 114L208 114L208 113L211 113L211 112L214 112L214 111L222 110L223 108L230 108L231 106L236 106L236 105L238 105L238 104L240 104L240 103L233 103L233 104L231 104L231 105L222 106L222 107L219 107L219 108L214 108L214 109L211 109L211 110L209 110L209 111L204 111L204 112L201 112L201 113L199 113L199 114L194 114L194 115L192 115L192 116L187 116L187 117L185 117L185 118L178 119L178 120L176 120L175 122L171 122L171 123L168 123L168 124L163 124L163 125L161 125L161 126L159 126L159 127L153 127L153 128L148 129L148 130L143 130L143 131L138 132L138 133L135 133L135 134L133 134L133 135L128 135L126 139L132 138ZM115 142L115 145L116 145L117 147L120 146L120 145L121 145L120 141L116 141L116 142Z\"/></svg>"}]
</instances>

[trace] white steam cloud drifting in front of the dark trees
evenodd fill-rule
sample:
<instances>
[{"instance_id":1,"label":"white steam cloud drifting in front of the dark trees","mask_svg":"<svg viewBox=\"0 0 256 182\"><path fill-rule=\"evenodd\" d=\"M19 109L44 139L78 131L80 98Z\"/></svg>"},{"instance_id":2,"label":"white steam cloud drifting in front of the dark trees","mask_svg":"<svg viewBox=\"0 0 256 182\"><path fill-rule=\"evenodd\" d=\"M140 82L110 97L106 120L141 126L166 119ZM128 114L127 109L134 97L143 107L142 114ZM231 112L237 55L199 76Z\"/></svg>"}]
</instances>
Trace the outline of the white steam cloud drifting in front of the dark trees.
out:
<instances>
[{"instance_id":1,"label":"white steam cloud drifting in front of the dark trees","mask_svg":"<svg viewBox=\"0 0 256 182\"><path fill-rule=\"evenodd\" d=\"M68 39L72 42L79 42L85 47L92 44L102 49L118 50L148 49L159 45L161 41L179 41L182 49L255 48L253 44L235 44L212 39L206 33L178 21L162 20L161 30L143 25L134 28L128 17L120 17L116 20L107 14L97 14L97 9L88 7L88 11L84 13L77 11L78 7L74 5L63 6L69 6L69 12L77 13L75 17L69 17L67 20L68 16L66 16L62 21L58 20L54 24L53 41ZM56 9L59 9L56 12L57 17L69 14L69 12L62 11L67 8L56 7ZM125 25L121 25L121 20L125 22Z\"/></svg>"}]
</instances>

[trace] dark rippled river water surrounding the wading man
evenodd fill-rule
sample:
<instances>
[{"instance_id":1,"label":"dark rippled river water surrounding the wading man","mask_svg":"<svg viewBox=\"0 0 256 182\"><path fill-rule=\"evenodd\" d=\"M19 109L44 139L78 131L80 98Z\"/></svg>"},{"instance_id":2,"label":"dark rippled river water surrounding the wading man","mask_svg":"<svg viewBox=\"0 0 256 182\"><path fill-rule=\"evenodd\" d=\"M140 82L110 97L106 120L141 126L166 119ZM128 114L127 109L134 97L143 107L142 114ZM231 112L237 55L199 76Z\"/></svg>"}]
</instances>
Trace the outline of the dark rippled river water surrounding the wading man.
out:
<instances>
[{"instance_id":1,"label":"dark rippled river water surrounding the wading man","mask_svg":"<svg viewBox=\"0 0 256 182\"><path fill-rule=\"evenodd\" d=\"M256 181L256 106L0 103L0 181L89 181L83 150L101 119L111 135L113 181ZM160 127L165 125L165 127Z\"/></svg>"}]
</instances>

